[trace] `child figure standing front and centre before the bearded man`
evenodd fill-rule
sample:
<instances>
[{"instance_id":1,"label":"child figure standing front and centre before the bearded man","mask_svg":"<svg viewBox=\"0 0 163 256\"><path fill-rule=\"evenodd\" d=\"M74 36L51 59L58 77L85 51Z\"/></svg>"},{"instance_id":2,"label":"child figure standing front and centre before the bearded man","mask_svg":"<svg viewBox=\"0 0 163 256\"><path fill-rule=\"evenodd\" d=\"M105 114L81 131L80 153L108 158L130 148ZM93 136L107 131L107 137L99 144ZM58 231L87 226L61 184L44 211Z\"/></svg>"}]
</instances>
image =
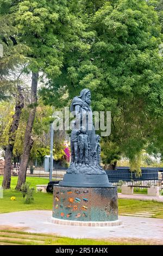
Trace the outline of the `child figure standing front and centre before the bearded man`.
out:
<instances>
[{"instance_id":1,"label":"child figure standing front and centre before the bearded man","mask_svg":"<svg viewBox=\"0 0 163 256\"><path fill-rule=\"evenodd\" d=\"M85 163L85 166L89 167L90 140L89 136L86 134L86 129L84 126L80 128L80 134L78 135L78 147L79 166L82 166L82 163Z\"/></svg>"}]
</instances>

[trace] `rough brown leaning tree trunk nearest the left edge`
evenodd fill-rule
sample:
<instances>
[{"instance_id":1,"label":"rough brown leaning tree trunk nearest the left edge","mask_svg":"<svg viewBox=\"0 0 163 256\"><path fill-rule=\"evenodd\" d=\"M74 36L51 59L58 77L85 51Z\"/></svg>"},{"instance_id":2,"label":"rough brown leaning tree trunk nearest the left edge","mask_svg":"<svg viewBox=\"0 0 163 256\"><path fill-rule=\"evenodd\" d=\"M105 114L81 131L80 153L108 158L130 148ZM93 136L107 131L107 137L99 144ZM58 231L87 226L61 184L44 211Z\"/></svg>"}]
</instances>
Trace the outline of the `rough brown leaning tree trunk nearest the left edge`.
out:
<instances>
[{"instance_id":1,"label":"rough brown leaning tree trunk nearest the left edge","mask_svg":"<svg viewBox=\"0 0 163 256\"><path fill-rule=\"evenodd\" d=\"M14 148L16 131L18 129L18 124L20 121L20 116L22 113L22 109L24 107L24 97L22 94L22 89L20 86L17 86L17 100L15 106L15 114L12 119L12 124L9 130L9 140L8 145L5 148L5 163L4 163L4 175L3 175L3 183L2 186L4 189L10 188L11 183L11 167L12 167L12 151Z\"/></svg>"}]
</instances>

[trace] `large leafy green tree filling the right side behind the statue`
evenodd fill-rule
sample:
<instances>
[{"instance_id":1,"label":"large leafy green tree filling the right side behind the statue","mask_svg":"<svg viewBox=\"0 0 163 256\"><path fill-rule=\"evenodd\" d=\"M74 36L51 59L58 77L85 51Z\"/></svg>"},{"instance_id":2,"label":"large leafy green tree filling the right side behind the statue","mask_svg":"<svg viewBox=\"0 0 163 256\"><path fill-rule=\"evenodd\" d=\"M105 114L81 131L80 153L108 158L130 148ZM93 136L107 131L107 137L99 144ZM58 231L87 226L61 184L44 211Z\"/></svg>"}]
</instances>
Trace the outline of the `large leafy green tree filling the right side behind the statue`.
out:
<instances>
[{"instance_id":1,"label":"large leafy green tree filling the right side behind the statue","mask_svg":"<svg viewBox=\"0 0 163 256\"><path fill-rule=\"evenodd\" d=\"M81 89L90 88L92 108L111 111L111 136L103 138L108 150L115 145L110 163L116 166L117 149L119 156L124 154L133 162L151 144L151 129L154 131L162 117L158 15L152 5L136 0L104 1L91 14L90 9L84 11L89 17L85 41L90 50L68 53L62 69L67 79L60 77L50 83L49 102L53 101L53 88L58 92L60 87L65 88L67 97L61 99L62 104ZM43 93L48 102L46 89Z\"/></svg>"}]
</instances>

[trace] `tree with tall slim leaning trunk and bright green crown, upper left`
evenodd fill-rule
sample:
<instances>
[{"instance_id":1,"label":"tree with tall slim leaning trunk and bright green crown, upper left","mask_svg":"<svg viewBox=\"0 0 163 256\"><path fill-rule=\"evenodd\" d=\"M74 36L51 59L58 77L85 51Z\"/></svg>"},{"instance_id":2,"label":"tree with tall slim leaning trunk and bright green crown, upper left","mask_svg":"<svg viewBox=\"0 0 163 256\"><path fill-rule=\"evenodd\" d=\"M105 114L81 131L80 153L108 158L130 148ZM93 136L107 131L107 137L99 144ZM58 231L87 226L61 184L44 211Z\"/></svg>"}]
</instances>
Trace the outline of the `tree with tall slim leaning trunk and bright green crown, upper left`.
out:
<instances>
[{"instance_id":1,"label":"tree with tall slim leaning trunk and bright green crown, upper left","mask_svg":"<svg viewBox=\"0 0 163 256\"><path fill-rule=\"evenodd\" d=\"M12 38L16 44L27 47L25 56L32 71L31 105L26 127L24 148L18 176L17 190L26 181L26 170L32 148L32 128L37 105L37 82L39 72L48 77L60 75L64 53L78 46L78 31L82 24L68 10L67 1L5 1L5 15L8 14L16 33ZM76 33L74 33L74 31Z\"/></svg>"}]
</instances>

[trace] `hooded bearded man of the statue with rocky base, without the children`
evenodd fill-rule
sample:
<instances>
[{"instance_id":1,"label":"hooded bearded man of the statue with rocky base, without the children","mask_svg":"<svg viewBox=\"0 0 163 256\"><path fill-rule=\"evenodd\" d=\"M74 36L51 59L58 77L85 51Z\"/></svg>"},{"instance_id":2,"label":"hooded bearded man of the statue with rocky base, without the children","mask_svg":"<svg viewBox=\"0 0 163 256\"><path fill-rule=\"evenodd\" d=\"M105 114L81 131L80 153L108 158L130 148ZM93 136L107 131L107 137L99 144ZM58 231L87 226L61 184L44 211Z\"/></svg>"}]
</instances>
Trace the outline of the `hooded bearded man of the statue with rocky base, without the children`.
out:
<instances>
[{"instance_id":1,"label":"hooded bearded man of the statue with rocky base, without the children","mask_svg":"<svg viewBox=\"0 0 163 256\"><path fill-rule=\"evenodd\" d=\"M93 125L92 109L90 107L90 103L91 93L89 89L83 89L80 92L80 96L74 97L71 103L70 111L76 118L76 129L80 133L81 127L84 127L86 135L89 137L89 163L87 162L87 159L84 159L83 156L82 160L78 160L78 163L80 162L79 164L77 164L77 160L75 163L73 161L71 162L71 166L67 169L67 173L105 174L104 170L99 168L98 164L93 162L93 153L96 148L96 134ZM78 150L80 151L80 149ZM80 152L79 155L81 155ZM82 166L81 162L83 163Z\"/></svg>"}]
</instances>

